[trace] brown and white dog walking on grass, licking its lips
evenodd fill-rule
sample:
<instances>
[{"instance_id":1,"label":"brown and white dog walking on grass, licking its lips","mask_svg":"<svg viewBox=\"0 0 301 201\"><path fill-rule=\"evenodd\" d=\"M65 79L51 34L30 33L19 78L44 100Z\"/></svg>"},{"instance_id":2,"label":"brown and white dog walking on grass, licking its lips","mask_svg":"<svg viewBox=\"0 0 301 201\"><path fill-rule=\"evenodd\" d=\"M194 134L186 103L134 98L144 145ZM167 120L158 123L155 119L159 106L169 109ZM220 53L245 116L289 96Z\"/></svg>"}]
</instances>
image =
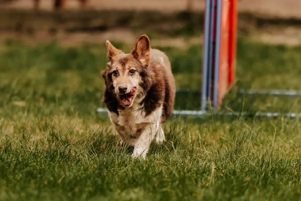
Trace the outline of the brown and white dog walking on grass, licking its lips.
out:
<instances>
[{"instance_id":1,"label":"brown and white dog walking on grass, licking its lips","mask_svg":"<svg viewBox=\"0 0 301 201\"><path fill-rule=\"evenodd\" d=\"M103 101L121 144L134 147L132 157L145 158L150 143L165 140L161 125L172 115L176 85L168 57L150 48L146 35L140 36L130 54L106 41L109 62Z\"/></svg>"}]
</instances>

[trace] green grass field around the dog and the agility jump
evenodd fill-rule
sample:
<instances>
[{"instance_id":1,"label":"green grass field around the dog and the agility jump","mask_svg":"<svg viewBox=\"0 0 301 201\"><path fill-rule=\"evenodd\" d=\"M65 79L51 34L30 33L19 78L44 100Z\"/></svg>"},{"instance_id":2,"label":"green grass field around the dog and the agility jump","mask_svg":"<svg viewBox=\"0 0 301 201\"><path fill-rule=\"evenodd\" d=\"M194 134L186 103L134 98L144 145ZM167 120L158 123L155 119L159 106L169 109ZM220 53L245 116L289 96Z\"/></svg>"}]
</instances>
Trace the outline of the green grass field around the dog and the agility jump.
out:
<instances>
[{"instance_id":1,"label":"green grass field around the dog and the agility jump","mask_svg":"<svg viewBox=\"0 0 301 201\"><path fill-rule=\"evenodd\" d=\"M113 43L114 45L116 43ZM119 48L130 47L118 43ZM170 47L179 88L199 89L201 46ZM240 88L301 89L301 47L238 41L224 111L301 112L301 98ZM173 117L145 161L120 149L101 103L105 45L8 42L0 49L0 200L300 200L298 119ZM198 110L177 94L175 109Z\"/></svg>"}]
</instances>

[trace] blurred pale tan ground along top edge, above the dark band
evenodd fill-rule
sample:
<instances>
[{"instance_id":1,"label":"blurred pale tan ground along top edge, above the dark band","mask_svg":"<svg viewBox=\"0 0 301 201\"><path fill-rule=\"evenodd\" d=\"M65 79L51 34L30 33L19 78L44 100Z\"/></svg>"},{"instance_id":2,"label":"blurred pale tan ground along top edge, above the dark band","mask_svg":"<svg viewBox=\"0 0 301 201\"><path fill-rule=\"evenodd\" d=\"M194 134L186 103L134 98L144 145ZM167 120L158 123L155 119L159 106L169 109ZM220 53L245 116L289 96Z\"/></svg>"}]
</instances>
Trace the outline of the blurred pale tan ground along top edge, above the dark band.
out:
<instances>
[{"instance_id":1,"label":"blurred pale tan ground along top edge, above the dark band","mask_svg":"<svg viewBox=\"0 0 301 201\"><path fill-rule=\"evenodd\" d=\"M205 0L192 0L195 11L203 11ZM16 0L11 4L0 5L7 9L32 9L32 0ZM68 0L67 9L77 9L76 0ZM187 8L187 0L89 0L88 9L95 10L152 10L164 12L183 11ZM51 10L52 1L41 0L41 9ZM264 14L279 18L301 18L300 0L238 0L240 12Z\"/></svg>"}]
</instances>

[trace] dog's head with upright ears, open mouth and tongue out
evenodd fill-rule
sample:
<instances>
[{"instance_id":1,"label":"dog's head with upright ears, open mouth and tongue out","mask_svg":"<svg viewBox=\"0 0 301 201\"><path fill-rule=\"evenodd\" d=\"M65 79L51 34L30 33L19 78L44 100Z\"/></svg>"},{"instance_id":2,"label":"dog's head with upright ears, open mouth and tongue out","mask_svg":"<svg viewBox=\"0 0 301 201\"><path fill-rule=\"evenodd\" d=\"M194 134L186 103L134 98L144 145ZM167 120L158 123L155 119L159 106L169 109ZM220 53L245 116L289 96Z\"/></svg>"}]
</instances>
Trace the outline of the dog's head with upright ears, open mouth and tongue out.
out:
<instances>
[{"instance_id":1,"label":"dog's head with upright ears, open mouth and tongue out","mask_svg":"<svg viewBox=\"0 0 301 201\"><path fill-rule=\"evenodd\" d=\"M130 54L124 54L106 41L110 61L102 72L105 85L115 94L120 106L131 107L137 96L142 96L150 86L147 78L150 42L146 35L140 36Z\"/></svg>"}]
</instances>

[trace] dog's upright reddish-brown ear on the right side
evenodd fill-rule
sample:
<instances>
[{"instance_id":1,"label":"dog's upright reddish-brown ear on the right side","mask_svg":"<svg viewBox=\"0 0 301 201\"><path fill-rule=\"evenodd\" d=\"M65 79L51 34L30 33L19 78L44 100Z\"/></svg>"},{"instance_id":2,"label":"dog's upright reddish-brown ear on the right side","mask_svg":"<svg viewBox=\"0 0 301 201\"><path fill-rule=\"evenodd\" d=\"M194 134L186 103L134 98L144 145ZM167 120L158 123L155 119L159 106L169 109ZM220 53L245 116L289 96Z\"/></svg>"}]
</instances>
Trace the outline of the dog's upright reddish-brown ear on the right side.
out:
<instances>
[{"instance_id":1,"label":"dog's upright reddish-brown ear on the right side","mask_svg":"<svg viewBox=\"0 0 301 201\"><path fill-rule=\"evenodd\" d=\"M135 59L139 60L143 65L147 64L150 58L150 41L146 35L140 36L137 40L131 54Z\"/></svg>"}]
</instances>

